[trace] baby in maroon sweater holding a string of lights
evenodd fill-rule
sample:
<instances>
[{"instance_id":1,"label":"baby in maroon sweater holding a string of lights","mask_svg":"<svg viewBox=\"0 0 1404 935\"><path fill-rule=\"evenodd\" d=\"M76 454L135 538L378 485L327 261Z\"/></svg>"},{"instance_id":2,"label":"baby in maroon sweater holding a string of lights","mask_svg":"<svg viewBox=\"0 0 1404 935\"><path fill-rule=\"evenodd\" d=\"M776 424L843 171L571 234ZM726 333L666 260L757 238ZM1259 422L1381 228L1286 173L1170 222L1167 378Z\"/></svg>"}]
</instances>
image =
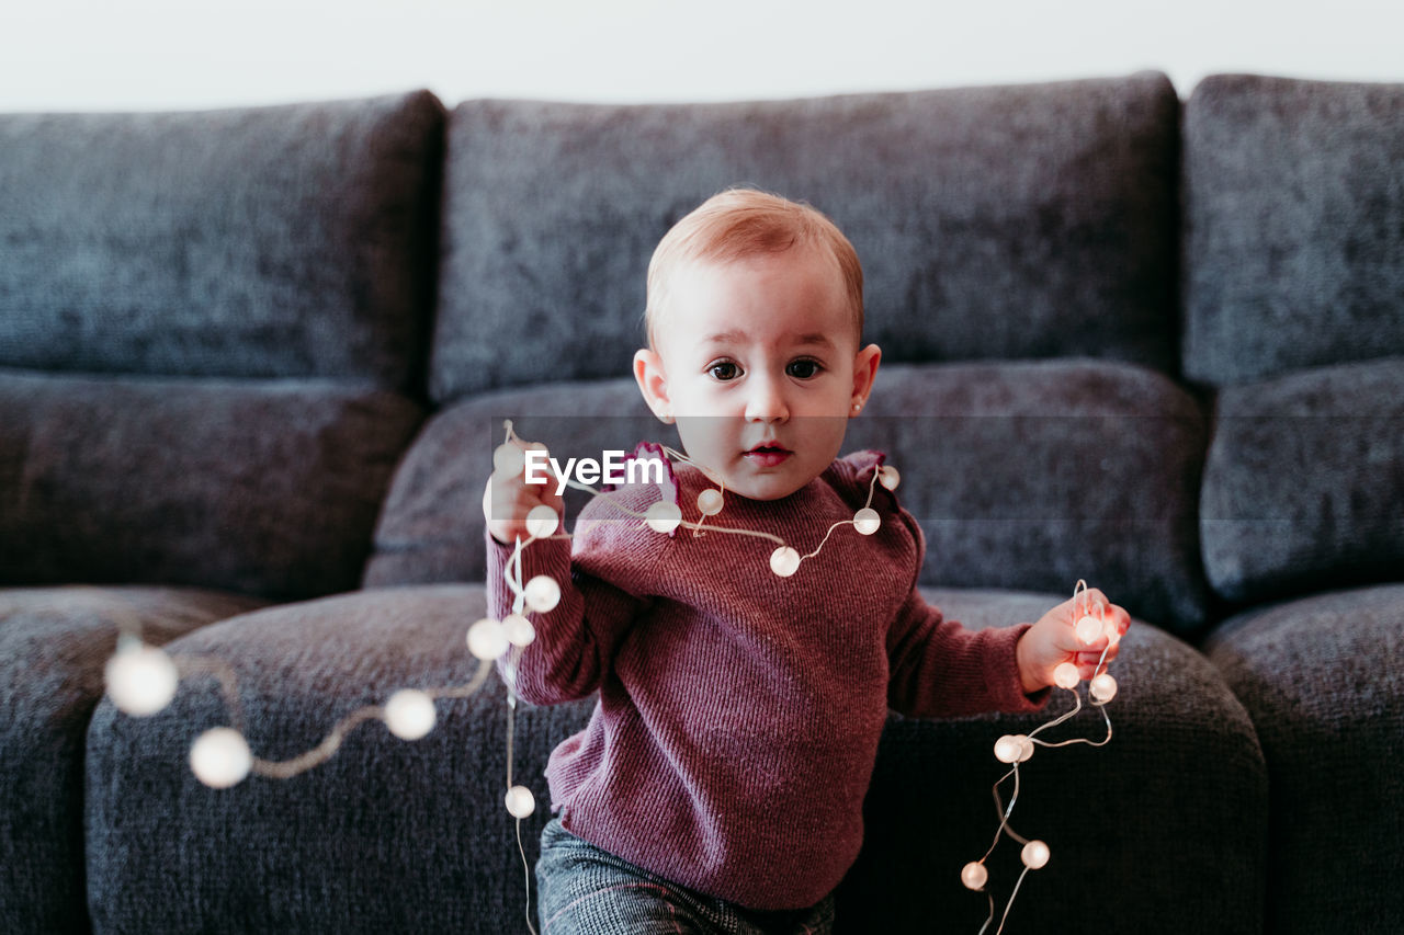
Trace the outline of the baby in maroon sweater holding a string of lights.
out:
<instances>
[{"instance_id":1,"label":"baby in maroon sweater holding a string of lights","mask_svg":"<svg viewBox=\"0 0 1404 935\"><path fill-rule=\"evenodd\" d=\"M595 497L573 539L522 550L522 580L563 592L538 615L518 694L598 691L546 768L559 816L536 866L543 935L827 932L889 709L1036 710L1060 663L1091 678L1116 640L1078 642L1073 601L972 632L921 598L925 541L873 483L883 456L838 458L882 351L862 344L858 256L820 212L751 190L708 199L654 251L646 314L633 375L692 462L675 466L684 521L823 548L782 576L775 539L656 532L636 517L667 487L633 484ZM709 489L722 511L703 517ZM876 531L824 539L869 500ZM507 543L541 504L562 511L555 484L522 475L484 490L497 618ZM1126 630L1122 608L1088 597Z\"/></svg>"}]
</instances>

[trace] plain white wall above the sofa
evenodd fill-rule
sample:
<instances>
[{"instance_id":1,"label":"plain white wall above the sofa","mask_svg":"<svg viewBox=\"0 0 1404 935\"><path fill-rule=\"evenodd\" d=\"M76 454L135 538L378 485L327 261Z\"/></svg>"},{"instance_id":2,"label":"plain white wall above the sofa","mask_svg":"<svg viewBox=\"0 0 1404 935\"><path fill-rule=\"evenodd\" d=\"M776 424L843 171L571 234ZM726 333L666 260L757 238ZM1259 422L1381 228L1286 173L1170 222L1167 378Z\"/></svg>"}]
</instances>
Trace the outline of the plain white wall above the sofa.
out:
<instances>
[{"instance_id":1,"label":"plain white wall above the sofa","mask_svg":"<svg viewBox=\"0 0 1404 935\"><path fill-rule=\"evenodd\" d=\"M1404 0L0 0L0 111L658 101L1213 72L1404 81Z\"/></svg>"}]
</instances>

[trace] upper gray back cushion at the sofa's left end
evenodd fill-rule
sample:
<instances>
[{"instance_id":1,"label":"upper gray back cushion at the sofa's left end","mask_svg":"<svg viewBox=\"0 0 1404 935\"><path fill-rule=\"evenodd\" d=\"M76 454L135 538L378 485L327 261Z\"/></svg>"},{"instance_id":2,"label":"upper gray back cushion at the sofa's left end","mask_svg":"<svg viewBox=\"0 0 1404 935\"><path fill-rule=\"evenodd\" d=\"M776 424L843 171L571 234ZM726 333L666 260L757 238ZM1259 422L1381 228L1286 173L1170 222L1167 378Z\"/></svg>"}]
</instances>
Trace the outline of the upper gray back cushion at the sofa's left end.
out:
<instances>
[{"instance_id":1,"label":"upper gray back cushion at the sofa's left end","mask_svg":"<svg viewBox=\"0 0 1404 935\"><path fill-rule=\"evenodd\" d=\"M428 91L0 117L0 366L418 380Z\"/></svg>"}]
</instances>

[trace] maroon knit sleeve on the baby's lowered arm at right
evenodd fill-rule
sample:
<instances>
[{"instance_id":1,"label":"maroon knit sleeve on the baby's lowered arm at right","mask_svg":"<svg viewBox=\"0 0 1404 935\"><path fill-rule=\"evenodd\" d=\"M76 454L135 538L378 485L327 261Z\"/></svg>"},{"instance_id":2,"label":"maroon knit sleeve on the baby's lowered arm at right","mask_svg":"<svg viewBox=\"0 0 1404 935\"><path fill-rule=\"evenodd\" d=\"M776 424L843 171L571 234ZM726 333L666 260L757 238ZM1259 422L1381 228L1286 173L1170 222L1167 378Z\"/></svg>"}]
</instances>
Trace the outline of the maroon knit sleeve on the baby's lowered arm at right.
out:
<instances>
[{"instance_id":1,"label":"maroon knit sleeve on the baby's lowered arm at right","mask_svg":"<svg viewBox=\"0 0 1404 935\"><path fill-rule=\"evenodd\" d=\"M921 528L904 510L901 518L917 538L917 571L887 630L889 706L915 717L1039 710L1049 691L1025 694L1015 657L1015 644L1031 625L972 630L945 619L917 590L925 555Z\"/></svg>"}]
</instances>

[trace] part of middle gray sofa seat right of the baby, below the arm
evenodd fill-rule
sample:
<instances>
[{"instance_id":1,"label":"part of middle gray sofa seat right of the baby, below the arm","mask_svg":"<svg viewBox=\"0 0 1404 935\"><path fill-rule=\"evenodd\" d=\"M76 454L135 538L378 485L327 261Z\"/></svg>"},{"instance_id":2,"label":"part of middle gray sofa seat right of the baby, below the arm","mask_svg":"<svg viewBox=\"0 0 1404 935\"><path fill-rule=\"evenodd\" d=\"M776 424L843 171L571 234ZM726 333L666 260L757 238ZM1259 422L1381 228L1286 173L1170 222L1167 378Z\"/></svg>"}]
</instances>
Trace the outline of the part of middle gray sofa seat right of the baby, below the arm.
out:
<instances>
[{"instance_id":1,"label":"part of middle gray sofa seat right of the baby, below the arm","mask_svg":"<svg viewBox=\"0 0 1404 935\"><path fill-rule=\"evenodd\" d=\"M967 626L1036 621L1071 597L924 590ZM1113 601L1115 592L1108 592ZM1097 920L1108 932L1261 931L1266 877L1266 772L1254 726L1219 672L1186 643L1137 621L1111 667L1112 740L1094 748L1039 748L1021 767L1011 827L1042 838L1047 866L1019 889L1011 927ZM1082 687L1085 692L1085 685ZM960 884L1000 827L991 797L1008 767L994 741L1029 733L1073 708L1054 689L1029 716L924 722L892 716L866 802L866 841L840 889L841 932L974 932L988 901ZM1102 740L1095 710L1040 734ZM1009 802L1012 779L1000 792ZM1001 840L987 863L997 913L1024 869L1019 845ZM1038 925L1033 925L1038 928Z\"/></svg>"}]
</instances>

